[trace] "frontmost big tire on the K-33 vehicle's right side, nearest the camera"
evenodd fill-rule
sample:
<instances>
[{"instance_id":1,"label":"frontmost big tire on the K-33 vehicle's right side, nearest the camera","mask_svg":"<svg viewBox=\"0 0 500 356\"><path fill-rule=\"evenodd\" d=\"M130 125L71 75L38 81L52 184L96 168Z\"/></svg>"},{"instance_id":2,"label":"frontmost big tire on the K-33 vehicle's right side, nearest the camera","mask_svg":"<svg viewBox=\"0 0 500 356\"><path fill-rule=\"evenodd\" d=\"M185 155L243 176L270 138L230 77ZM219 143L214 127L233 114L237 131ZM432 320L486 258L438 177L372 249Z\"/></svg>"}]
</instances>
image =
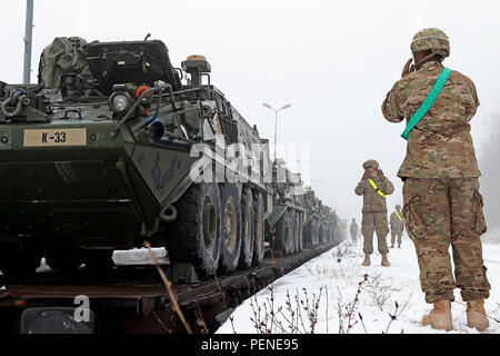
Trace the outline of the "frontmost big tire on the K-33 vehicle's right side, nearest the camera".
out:
<instances>
[{"instance_id":1,"label":"frontmost big tire on the K-33 vehicle's right side, nearest the camera","mask_svg":"<svg viewBox=\"0 0 500 356\"><path fill-rule=\"evenodd\" d=\"M219 187L193 184L177 202L177 219L169 224L167 250L171 264L191 264L201 278L219 266L221 208Z\"/></svg>"}]
</instances>

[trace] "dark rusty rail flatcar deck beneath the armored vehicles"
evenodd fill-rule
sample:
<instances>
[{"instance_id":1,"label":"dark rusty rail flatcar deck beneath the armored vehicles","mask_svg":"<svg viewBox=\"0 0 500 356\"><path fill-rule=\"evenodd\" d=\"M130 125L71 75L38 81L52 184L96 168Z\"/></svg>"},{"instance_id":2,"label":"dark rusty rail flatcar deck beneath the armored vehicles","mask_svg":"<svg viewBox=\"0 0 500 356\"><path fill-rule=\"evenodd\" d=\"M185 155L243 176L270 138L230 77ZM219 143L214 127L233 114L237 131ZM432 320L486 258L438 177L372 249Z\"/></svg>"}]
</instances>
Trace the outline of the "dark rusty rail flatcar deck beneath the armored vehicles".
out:
<instances>
[{"instance_id":1,"label":"dark rusty rail flatcar deck beneath the armored vehicles","mask_svg":"<svg viewBox=\"0 0 500 356\"><path fill-rule=\"evenodd\" d=\"M173 291L194 333L213 333L232 309L277 278L332 248L314 249L280 258L266 258L261 266L231 276L196 284L174 284ZM73 275L38 273L33 278L0 276L0 332L19 333L23 310L37 307L77 307L74 298L87 296L99 333L186 332L154 267L120 266L106 275L79 270Z\"/></svg>"}]
</instances>

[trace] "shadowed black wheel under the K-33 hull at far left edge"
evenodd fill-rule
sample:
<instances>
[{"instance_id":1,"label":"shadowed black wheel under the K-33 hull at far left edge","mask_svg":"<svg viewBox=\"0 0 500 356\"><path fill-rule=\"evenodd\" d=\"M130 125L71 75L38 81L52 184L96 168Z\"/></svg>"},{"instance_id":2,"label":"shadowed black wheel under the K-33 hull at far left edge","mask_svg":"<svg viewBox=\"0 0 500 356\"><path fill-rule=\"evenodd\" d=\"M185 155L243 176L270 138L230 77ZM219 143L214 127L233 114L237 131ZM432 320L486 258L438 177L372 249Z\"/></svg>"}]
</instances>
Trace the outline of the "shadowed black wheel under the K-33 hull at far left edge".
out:
<instances>
[{"instance_id":1,"label":"shadowed black wheel under the K-33 hull at far left edge","mask_svg":"<svg viewBox=\"0 0 500 356\"><path fill-rule=\"evenodd\" d=\"M40 267L42 256L42 249L0 244L0 270L11 277L34 275Z\"/></svg>"}]
</instances>

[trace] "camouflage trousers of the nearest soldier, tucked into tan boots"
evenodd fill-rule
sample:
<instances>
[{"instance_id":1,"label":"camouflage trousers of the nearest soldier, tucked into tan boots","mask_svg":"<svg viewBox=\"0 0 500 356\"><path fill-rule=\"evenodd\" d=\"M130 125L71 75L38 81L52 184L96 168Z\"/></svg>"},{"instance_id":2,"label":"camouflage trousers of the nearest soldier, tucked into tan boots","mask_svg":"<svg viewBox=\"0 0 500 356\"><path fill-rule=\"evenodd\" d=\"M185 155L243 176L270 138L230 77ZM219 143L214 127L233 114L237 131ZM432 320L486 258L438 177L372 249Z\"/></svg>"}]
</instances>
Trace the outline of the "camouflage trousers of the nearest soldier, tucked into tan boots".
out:
<instances>
[{"instance_id":1,"label":"camouflage trousers of the nearest soldier, tucked into tan boots","mask_svg":"<svg viewBox=\"0 0 500 356\"><path fill-rule=\"evenodd\" d=\"M488 298L491 287L480 240L487 227L478 178L407 178L403 202L426 301L454 300L456 287L464 301ZM457 283L448 254L450 245Z\"/></svg>"}]
</instances>

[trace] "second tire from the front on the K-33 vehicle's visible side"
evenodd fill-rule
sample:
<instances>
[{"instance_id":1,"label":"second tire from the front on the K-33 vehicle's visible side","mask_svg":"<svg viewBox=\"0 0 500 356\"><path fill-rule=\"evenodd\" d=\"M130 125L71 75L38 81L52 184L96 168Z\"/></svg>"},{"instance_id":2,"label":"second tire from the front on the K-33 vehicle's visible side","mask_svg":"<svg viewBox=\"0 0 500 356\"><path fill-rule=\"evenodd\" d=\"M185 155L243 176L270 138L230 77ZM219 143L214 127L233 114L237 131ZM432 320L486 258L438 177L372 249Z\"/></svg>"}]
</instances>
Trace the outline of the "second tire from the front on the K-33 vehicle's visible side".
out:
<instances>
[{"instance_id":1,"label":"second tire from the front on the K-33 vehicle's visible side","mask_svg":"<svg viewBox=\"0 0 500 356\"><path fill-rule=\"evenodd\" d=\"M233 184L221 184L221 244L218 274L227 275L238 268L241 254L241 209L238 188Z\"/></svg>"}]
</instances>

